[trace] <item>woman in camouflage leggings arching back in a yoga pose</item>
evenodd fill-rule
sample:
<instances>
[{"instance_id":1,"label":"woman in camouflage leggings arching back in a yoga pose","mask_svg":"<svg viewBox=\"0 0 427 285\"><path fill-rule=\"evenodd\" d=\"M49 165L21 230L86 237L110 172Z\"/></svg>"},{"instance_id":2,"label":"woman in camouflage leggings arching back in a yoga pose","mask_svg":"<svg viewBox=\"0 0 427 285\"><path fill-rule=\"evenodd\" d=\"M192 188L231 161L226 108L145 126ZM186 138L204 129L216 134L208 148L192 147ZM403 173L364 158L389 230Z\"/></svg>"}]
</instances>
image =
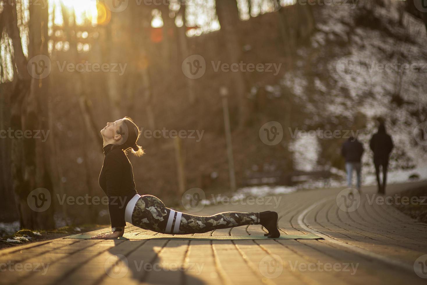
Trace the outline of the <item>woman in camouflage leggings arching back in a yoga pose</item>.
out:
<instances>
[{"instance_id":1,"label":"woman in camouflage leggings arching back in a yoga pose","mask_svg":"<svg viewBox=\"0 0 427 285\"><path fill-rule=\"evenodd\" d=\"M129 117L107 123L101 130L104 140L104 163L99 174L99 186L108 196L110 234L93 238L118 238L123 236L126 222L158 233L207 233L217 229L261 224L268 230L269 238L280 236L276 212L224 212L212 216L197 216L174 211L152 195L139 195L135 190L132 164L127 152L140 157L143 149L137 145L139 128Z\"/></svg>"}]
</instances>

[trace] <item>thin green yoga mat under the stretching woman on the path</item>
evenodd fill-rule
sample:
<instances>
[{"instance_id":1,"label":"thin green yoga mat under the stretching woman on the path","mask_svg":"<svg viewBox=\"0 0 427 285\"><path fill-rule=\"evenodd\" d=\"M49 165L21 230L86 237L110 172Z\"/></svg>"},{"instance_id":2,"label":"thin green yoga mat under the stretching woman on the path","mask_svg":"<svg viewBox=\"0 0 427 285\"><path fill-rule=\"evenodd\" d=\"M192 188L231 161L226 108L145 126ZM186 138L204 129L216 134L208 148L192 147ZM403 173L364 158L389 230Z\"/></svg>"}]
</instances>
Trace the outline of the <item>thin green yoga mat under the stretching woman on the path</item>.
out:
<instances>
[{"instance_id":1,"label":"thin green yoga mat under the stretching woman on the path","mask_svg":"<svg viewBox=\"0 0 427 285\"><path fill-rule=\"evenodd\" d=\"M80 238L80 239L90 239L91 235L71 235L66 236L64 238ZM267 238L263 235L244 235L244 236L173 236L173 235L161 235L161 236L153 236L153 235L136 235L129 236L128 238L121 236L118 239L131 239L131 240L141 240L141 239L173 239L173 240L198 240L198 241L212 241L212 240L254 240L254 239L322 239L319 236L313 234L307 235L285 235L281 234L279 238Z\"/></svg>"}]
</instances>

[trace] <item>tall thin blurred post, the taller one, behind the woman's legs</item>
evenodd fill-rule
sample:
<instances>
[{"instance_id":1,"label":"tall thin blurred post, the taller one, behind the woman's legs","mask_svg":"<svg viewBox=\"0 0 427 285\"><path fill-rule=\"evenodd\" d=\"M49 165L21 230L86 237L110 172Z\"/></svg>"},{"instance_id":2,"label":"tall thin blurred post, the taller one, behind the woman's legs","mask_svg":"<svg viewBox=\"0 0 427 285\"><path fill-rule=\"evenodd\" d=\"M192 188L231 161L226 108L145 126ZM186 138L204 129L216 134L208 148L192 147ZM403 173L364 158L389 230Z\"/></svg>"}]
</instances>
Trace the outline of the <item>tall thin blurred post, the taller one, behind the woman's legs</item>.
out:
<instances>
[{"instance_id":1,"label":"tall thin blurred post, the taller one, behind the woman's legs","mask_svg":"<svg viewBox=\"0 0 427 285\"><path fill-rule=\"evenodd\" d=\"M236 191L236 177L234 172L233 145L231 143L230 114L228 113L228 88L225 86L222 86L221 88L219 88L219 94L221 94L222 111L224 113L225 142L227 144L230 187L231 187L231 191L234 192Z\"/></svg>"}]
</instances>

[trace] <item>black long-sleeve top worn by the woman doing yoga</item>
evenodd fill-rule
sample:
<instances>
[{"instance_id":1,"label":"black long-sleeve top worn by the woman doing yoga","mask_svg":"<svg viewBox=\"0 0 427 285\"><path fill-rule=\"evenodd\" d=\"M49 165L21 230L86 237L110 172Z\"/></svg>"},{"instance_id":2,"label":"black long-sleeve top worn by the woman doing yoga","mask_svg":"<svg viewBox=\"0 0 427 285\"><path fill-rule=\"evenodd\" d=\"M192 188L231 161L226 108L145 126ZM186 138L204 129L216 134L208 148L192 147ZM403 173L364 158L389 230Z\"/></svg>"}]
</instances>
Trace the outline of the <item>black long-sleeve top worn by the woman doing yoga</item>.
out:
<instances>
[{"instance_id":1,"label":"black long-sleeve top worn by the woman doing yoga","mask_svg":"<svg viewBox=\"0 0 427 285\"><path fill-rule=\"evenodd\" d=\"M111 227L124 227L126 205L137 194L132 164L125 152L112 144L104 147L104 155L99 186L108 197Z\"/></svg>"}]
</instances>

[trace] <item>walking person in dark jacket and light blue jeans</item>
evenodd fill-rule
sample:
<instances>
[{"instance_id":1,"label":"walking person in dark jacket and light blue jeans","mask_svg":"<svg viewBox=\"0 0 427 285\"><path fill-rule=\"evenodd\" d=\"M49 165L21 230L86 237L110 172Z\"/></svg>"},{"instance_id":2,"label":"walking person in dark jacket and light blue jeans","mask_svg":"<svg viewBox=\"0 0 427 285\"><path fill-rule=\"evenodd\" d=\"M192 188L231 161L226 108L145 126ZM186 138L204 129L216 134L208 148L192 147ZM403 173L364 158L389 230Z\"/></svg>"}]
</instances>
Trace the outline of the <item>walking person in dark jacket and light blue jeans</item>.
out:
<instances>
[{"instance_id":1,"label":"walking person in dark jacket and light blue jeans","mask_svg":"<svg viewBox=\"0 0 427 285\"><path fill-rule=\"evenodd\" d=\"M357 190L360 191L362 186L362 166L360 160L363 154L363 145L357 138L349 137L342 144L341 154L345 158L345 170L347 171L348 187L352 186L353 171L356 170L357 175Z\"/></svg>"}]
</instances>

